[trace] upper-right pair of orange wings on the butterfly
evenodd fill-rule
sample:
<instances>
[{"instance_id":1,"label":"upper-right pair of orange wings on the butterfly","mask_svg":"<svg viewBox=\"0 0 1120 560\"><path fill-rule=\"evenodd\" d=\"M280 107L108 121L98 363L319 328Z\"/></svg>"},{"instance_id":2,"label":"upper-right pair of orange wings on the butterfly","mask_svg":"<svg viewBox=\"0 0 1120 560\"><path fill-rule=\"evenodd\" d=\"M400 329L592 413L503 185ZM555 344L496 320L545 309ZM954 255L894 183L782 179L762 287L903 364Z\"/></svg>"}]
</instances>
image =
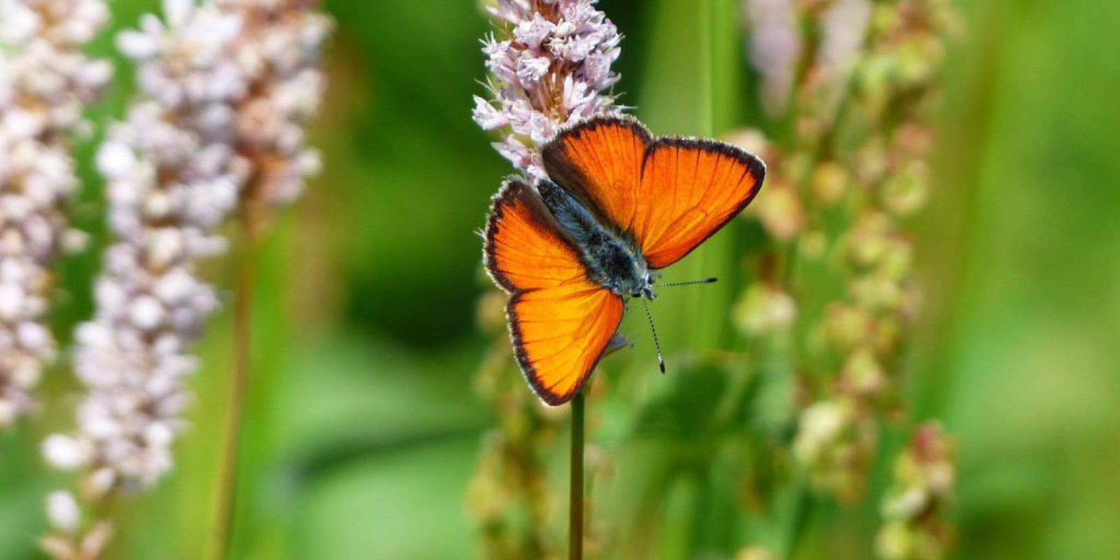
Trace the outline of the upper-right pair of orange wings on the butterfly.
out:
<instances>
[{"instance_id":1,"label":"upper-right pair of orange wings on the butterfly","mask_svg":"<svg viewBox=\"0 0 1120 560\"><path fill-rule=\"evenodd\" d=\"M544 170L637 241L651 268L687 255L758 193L762 160L712 140L660 138L633 118L597 118L542 150Z\"/></svg>"}]
</instances>

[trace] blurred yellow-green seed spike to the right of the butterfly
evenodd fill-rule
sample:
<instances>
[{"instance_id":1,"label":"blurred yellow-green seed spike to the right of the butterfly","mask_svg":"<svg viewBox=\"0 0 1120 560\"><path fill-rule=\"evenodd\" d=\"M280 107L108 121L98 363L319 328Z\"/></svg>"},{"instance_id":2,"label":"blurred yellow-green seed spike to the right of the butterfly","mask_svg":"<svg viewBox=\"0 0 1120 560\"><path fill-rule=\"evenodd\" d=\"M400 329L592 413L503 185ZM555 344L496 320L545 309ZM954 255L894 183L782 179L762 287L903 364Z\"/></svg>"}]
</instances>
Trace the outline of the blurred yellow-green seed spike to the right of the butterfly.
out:
<instances>
[{"instance_id":1,"label":"blurred yellow-green seed spike to the right of the butterfly","mask_svg":"<svg viewBox=\"0 0 1120 560\"><path fill-rule=\"evenodd\" d=\"M760 223L780 244L795 246L797 259L830 265L844 288L823 305L799 301L795 321L809 327L804 368L818 371L801 380L810 402L792 451L816 489L855 501L876 451L876 426L897 416L905 329L917 301L913 244L900 218L921 207L927 188L935 65L954 12L945 0L746 0L746 11L764 99L772 109L795 109L793 140L767 158L773 186ZM814 52L801 52L802 44ZM848 217L829 223L824 216L837 207ZM805 282L800 291L814 289ZM765 334L766 305L756 290L736 309L748 336Z\"/></svg>"}]
</instances>

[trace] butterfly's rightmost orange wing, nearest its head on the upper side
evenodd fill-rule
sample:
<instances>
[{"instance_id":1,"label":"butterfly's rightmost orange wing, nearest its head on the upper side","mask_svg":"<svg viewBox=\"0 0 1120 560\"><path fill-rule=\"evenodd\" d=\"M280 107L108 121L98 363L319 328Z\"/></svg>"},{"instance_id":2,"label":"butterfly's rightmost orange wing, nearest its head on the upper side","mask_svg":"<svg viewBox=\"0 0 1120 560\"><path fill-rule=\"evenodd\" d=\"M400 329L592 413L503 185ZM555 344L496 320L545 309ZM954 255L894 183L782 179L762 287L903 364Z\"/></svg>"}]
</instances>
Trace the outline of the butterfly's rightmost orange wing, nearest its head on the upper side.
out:
<instances>
[{"instance_id":1,"label":"butterfly's rightmost orange wing, nearest its head on the upper side","mask_svg":"<svg viewBox=\"0 0 1120 560\"><path fill-rule=\"evenodd\" d=\"M645 153L641 205L631 231L650 268L689 254L743 212L766 166L734 146L689 138L657 139Z\"/></svg>"}]
</instances>

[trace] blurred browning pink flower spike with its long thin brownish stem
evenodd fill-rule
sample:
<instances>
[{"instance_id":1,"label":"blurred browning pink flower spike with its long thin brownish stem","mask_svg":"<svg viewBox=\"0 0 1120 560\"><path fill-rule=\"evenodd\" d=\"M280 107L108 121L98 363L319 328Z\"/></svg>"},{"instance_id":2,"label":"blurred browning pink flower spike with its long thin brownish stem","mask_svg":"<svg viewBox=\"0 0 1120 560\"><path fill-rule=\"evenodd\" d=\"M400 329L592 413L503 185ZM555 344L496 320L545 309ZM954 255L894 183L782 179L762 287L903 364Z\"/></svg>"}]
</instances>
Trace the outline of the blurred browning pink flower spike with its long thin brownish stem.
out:
<instances>
[{"instance_id":1,"label":"blurred browning pink flower spike with its long thin brownish stem","mask_svg":"<svg viewBox=\"0 0 1120 560\"><path fill-rule=\"evenodd\" d=\"M318 152L305 144L307 121L323 97L319 53L330 29L330 21L315 11L318 3L226 1L227 9L246 22L235 56L256 53L263 64L237 106L235 147L252 171L241 192L237 215L245 249L234 302L233 373L211 548L215 558L232 553L236 524L241 441L252 373L256 249L276 209L293 202L305 178L316 174L320 165Z\"/></svg>"}]
</instances>

